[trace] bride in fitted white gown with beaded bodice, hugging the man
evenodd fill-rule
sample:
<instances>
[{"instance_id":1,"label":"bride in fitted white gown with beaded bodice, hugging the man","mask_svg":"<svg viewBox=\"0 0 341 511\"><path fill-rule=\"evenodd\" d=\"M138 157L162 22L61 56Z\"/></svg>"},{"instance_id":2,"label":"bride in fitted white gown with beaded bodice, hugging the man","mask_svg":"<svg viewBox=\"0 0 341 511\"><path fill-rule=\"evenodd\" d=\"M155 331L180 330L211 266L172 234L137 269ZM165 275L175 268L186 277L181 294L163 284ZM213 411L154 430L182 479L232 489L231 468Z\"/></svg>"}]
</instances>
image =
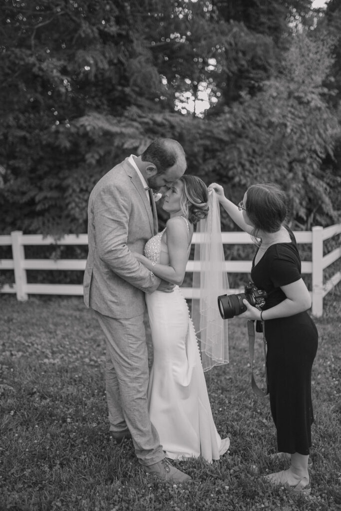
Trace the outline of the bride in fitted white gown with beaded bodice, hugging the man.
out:
<instances>
[{"instance_id":1,"label":"bride in fitted white gown with beaded bodice, hugging the man","mask_svg":"<svg viewBox=\"0 0 341 511\"><path fill-rule=\"evenodd\" d=\"M194 225L207 219L210 211L206 185L196 176L181 177L164 195L163 209L170 215L165 229L146 243L145 255L134 253L154 275L175 284L172 292L146 294L154 351L147 394L150 419L168 458L202 456L211 463L229 449L230 439L221 439L214 424L198 340L179 288L185 276ZM219 290L213 289L213 293L217 309ZM203 312L202 318L205 317ZM213 357L211 366L228 362L223 326L218 328L218 342L217 332L210 335L212 325L202 326L201 321L201 327L203 360Z\"/></svg>"}]
</instances>

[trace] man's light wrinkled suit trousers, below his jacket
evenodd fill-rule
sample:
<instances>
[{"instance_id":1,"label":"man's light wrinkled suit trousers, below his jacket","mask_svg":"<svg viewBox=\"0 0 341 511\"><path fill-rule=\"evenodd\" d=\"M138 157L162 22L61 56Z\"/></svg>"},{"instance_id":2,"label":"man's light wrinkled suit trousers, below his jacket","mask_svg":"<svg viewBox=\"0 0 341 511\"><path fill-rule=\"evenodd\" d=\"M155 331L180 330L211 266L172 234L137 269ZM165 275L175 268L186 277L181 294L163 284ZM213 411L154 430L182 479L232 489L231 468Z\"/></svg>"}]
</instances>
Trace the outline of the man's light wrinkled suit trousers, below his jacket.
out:
<instances>
[{"instance_id":1,"label":"man's light wrinkled suit trousers, below his jacket","mask_svg":"<svg viewBox=\"0 0 341 511\"><path fill-rule=\"evenodd\" d=\"M140 463L157 463L165 453L148 412L144 315L121 319L95 312L106 337L105 383L110 431L120 434L128 428Z\"/></svg>"}]
</instances>

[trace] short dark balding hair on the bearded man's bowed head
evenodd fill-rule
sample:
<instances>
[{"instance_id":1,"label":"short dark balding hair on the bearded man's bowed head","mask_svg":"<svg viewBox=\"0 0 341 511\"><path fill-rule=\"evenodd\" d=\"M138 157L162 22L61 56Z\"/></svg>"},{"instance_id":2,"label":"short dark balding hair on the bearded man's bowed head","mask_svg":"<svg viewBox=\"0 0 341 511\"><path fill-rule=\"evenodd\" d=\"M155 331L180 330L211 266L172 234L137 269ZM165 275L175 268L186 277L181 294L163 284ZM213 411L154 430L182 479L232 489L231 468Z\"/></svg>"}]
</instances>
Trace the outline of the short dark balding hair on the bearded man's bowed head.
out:
<instances>
[{"instance_id":1,"label":"short dark balding hair on the bearded man's bowed head","mask_svg":"<svg viewBox=\"0 0 341 511\"><path fill-rule=\"evenodd\" d=\"M141 159L154 164L157 174L164 174L181 156L186 161L184 148L176 140L156 138L141 154Z\"/></svg>"}]
</instances>

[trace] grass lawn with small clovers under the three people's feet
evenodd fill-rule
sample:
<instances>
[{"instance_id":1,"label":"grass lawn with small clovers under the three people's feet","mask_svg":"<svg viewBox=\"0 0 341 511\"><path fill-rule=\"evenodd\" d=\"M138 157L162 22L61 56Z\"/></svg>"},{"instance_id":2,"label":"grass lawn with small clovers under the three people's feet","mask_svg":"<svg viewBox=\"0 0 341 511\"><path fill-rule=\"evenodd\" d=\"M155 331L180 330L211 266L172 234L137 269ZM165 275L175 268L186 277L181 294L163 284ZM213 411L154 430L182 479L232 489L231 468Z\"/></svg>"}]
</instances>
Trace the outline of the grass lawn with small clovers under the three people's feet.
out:
<instances>
[{"instance_id":1,"label":"grass lawn with small clovers under the three people's feet","mask_svg":"<svg viewBox=\"0 0 341 511\"><path fill-rule=\"evenodd\" d=\"M312 375L315 423L310 497L261 475L285 465L276 452L268 398L251 389L246 322L231 320L230 364L207 384L213 416L231 448L219 461L175 462L181 486L149 479L131 440L110 438L104 337L81 297L0 296L0 511L241 511L341 509L341 330L339 290L316 320ZM262 342L256 379L263 381Z\"/></svg>"}]
</instances>

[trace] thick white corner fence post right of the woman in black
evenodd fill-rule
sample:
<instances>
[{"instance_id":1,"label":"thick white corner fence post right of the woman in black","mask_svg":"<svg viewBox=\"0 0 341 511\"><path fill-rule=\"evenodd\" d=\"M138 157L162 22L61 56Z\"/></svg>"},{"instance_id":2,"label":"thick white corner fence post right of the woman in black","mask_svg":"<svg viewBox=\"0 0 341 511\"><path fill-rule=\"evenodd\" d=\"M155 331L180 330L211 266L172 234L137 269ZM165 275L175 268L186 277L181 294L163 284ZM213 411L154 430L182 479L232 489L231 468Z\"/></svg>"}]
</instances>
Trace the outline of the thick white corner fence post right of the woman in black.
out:
<instances>
[{"instance_id":1,"label":"thick white corner fence post right of the woman in black","mask_svg":"<svg viewBox=\"0 0 341 511\"><path fill-rule=\"evenodd\" d=\"M312 228L312 314L323 314L323 227Z\"/></svg>"}]
</instances>

